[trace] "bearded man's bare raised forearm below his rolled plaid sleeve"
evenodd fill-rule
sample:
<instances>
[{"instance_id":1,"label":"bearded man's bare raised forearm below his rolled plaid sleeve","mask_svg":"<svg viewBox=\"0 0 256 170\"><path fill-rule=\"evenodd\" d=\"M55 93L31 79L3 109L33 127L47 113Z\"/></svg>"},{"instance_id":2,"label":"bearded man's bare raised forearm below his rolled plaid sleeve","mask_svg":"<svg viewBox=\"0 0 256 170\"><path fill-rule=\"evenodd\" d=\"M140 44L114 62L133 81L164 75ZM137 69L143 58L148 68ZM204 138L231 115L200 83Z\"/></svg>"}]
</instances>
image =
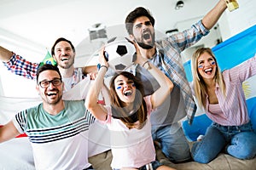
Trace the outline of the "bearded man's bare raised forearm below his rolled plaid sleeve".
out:
<instances>
[{"instance_id":1,"label":"bearded man's bare raised forearm below his rolled plaid sleeve","mask_svg":"<svg viewBox=\"0 0 256 170\"><path fill-rule=\"evenodd\" d=\"M219 0L212 10L210 10L202 19L202 24L207 28L207 30L211 30L212 26L214 26L221 14L224 13L224 10L227 8L224 0Z\"/></svg>"}]
</instances>

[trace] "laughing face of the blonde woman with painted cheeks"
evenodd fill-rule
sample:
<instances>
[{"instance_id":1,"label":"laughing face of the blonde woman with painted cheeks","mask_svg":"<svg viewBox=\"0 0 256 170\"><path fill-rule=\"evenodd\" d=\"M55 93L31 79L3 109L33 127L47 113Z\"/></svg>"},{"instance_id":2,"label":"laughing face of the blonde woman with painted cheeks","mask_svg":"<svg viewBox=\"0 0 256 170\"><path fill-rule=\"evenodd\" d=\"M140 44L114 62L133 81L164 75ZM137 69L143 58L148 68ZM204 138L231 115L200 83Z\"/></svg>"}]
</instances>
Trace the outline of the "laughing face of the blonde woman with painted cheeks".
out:
<instances>
[{"instance_id":1,"label":"laughing face of the blonde woman with painted cheeks","mask_svg":"<svg viewBox=\"0 0 256 170\"><path fill-rule=\"evenodd\" d=\"M197 59L197 71L204 80L213 79L216 75L216 60L204 52Z\"/></svg>"}]
</instances>

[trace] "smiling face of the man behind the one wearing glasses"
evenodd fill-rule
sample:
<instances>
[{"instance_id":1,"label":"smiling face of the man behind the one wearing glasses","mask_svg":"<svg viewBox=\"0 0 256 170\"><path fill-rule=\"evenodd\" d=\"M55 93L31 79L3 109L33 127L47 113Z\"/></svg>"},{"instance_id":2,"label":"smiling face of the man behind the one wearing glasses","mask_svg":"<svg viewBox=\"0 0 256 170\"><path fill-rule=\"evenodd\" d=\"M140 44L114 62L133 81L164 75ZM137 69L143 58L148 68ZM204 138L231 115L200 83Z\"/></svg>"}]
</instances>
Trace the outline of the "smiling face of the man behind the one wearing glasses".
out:
<instances>
[{"instance_id":1,"label":"smiling face of the man behind the one wearing glasses","mask_svg":"<svg viewBox=\"0 0 256 170\"><path fill-rule=\"evenodd\" d=\"M68 42L61 41L55 45L54 59L63 69L70 68L74 63L75 53Z\"/></svg>"}]
</instances>

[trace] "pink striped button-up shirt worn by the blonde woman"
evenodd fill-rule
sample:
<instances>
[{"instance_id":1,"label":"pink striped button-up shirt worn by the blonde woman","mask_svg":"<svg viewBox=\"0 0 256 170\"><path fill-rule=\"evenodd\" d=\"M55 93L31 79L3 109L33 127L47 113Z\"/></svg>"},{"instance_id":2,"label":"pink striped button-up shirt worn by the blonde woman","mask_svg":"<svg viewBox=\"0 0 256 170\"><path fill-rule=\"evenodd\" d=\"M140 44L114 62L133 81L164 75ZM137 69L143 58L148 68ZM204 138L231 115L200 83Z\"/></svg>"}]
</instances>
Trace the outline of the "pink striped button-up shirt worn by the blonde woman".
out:
<instances>
[{"instance_id":1,"label":"pink striped button-up shirt worn by the blonde woman","mask_svg":"<svg viewBox=\"0 0 256 170\"><path fill-rule=\"evenodd\" d=\"M223 126L240 126L249 122L242 82L254 75L256 75L256 55L230 70L223 71L227 97L224 97L217 84L215 94L218 98L219 110L218 106L209 105L208 95L206 95L207 116L213 122Z\"/></svg>"}]
</instances>

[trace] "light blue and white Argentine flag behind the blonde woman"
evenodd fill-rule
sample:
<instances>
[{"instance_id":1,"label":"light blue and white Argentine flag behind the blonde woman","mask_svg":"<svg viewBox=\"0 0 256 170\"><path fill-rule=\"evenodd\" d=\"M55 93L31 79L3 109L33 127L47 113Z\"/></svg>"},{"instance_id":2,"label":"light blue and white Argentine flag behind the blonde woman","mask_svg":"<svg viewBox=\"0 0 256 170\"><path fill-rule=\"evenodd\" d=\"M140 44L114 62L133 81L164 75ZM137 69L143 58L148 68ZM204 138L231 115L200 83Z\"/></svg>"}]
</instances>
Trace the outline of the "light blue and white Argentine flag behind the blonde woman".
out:
<instances>
[{"instance_id":1,"label":"light blue and white Argentine flag behind the blonde woman","mask_svg":"<svg viewBox=\"0 0 256 170\"><path fill-rule=\"evenodd\" d=\"M230 39L219 43L212 48L218 61L221 71L230 69L241 62L256 55L256 25L237 34ZM183 64L189 82L192 82L191 60ZM250 77L242 84L247 99L247 110L253 129L256 130L256 76ZM183 132L189 141L195 141L199 135L206 133L207 127L212 121L205 113L196 113L193 124L190 126L187 121L182 122Z\"/></svg>"}]
</instances>

